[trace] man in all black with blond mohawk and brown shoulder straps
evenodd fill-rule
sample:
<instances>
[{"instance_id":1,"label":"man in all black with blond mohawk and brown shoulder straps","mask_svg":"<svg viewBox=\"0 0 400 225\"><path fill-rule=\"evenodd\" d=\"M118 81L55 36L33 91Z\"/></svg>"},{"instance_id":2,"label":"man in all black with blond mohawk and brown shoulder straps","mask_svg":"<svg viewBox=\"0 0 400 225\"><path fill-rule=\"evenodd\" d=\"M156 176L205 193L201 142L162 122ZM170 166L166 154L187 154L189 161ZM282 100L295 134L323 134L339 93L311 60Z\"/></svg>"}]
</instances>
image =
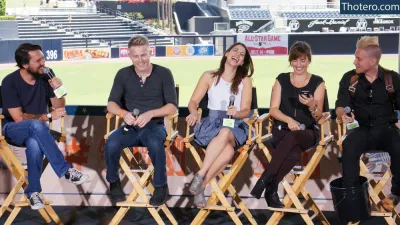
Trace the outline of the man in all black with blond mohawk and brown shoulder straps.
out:
<instances>
[{"instance_id":1,"label":"man in all black with blond mohawk and brown shoulder straps","mask_svg":"<svg viewBox=\"0 0 400 225\"><path fill-rule=\"evenodd\" d=\"M383 150L391 157L391 194L381 205L392 211L400 200L400 130L396 110L400 109L400 76L379 65L382 51L378 37L364 36L357 41L355 70L344 74L339 83L336 115L345 124L358 125L343 141L342 170L345 187L359 186L360 156L370 150ZM351 116L344 108L352 109Z\"/></svg>"}]
</instances>

